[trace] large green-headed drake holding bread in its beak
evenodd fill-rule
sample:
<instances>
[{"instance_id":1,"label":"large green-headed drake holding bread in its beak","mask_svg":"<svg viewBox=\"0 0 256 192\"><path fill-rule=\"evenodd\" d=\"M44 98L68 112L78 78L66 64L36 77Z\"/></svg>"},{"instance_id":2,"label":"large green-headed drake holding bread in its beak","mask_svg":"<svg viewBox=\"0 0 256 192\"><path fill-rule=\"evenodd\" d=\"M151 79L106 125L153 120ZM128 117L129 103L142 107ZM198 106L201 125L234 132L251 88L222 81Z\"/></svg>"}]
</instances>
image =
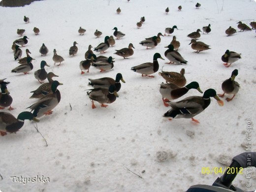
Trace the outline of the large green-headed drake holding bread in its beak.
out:
<instances>
[{"instance_id":1,"label":"large green-headed drake holding bread in its beak","mask_svg":"<svg viewBox=\"0 0 256 192\"><path fill-rule=\"evenodd\" d=\"M193 117L203 112L211 103L211 98L214 97L220 106L224 105L223 100L217 96L214 89L208 89L204 92L203 96L189 96L178 102L169 101L168 104L171 106L164 117L173 118L191 118L193 122L200 123Z\"/></svg>"}]
</instances>

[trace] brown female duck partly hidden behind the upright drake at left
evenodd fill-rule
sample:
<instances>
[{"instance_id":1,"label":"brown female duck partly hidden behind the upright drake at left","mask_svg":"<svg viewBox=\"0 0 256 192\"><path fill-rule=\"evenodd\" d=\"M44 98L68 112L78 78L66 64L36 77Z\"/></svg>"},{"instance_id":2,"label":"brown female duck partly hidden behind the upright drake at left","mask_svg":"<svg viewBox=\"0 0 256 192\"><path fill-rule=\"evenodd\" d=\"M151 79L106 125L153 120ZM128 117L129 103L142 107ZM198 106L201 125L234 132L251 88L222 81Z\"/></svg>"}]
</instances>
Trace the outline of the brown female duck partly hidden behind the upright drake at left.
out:
<instances>
[{"instance_id":1,"label":"brown female duck partly hidden behind the upright drake at left","mask_svg":"<svg viewBox=\"0 0 256 192\"><path fill-rule=\"evenodd\" d=\"M49 72L47 74L47 83L43 83L40 85L36 90L30 92L33 93L30 98L41 98L47 94L52 94L52 83L53 83L53 77L59 77L58 75L55 75L53 72Z\"/></svg>"}]
</instances>

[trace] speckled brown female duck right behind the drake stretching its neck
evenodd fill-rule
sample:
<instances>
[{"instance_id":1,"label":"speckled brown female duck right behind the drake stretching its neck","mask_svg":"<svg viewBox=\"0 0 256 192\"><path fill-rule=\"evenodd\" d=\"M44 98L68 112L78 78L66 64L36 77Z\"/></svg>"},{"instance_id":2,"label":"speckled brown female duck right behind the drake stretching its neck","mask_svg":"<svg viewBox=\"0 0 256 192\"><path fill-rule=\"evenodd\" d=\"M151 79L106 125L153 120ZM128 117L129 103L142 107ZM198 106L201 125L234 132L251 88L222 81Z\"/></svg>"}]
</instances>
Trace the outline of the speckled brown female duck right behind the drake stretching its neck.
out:
<instances>
[{"instance_id":1,"label":"speckled brown female duck right behind the drake stretching its neck","mask_svg":"<svg viewBox=\"0 0 256 192\"><path fill-rule=\"evenodd\" d=\"M172 83L179 87L184 87L187 83L185 78L185 69L182 68L180 73L177 72L169 72L169 71L161 71L158 73L162 78L165 79L166 83Z\"/></svg>"}]
</instances>

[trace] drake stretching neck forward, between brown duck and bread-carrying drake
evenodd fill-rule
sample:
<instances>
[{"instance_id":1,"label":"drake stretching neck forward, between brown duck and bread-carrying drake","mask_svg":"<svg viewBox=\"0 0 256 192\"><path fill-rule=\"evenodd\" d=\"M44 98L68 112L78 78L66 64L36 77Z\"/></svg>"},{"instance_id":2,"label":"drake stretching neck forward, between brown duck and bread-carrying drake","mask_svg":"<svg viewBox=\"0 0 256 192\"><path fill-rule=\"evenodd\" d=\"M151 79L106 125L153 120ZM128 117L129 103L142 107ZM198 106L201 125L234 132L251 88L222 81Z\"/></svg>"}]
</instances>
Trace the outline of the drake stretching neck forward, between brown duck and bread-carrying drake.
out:
<instances>
[{"instance_id":1,"label":"drake stretching neck forward, between brown duck and bread-carrying drake","mask_svg":"<svg viewBox=\"0 0 256 192\"><path fill-rule=\"evenodd\" d=\"M168 107L169 105L166 102L184 96L191 89L196 89L201 94L203 93L196 81L193 81L182 88L172 83L161 83L159 92L162 96L164 106Z\"/></svg>"}]
</instances>

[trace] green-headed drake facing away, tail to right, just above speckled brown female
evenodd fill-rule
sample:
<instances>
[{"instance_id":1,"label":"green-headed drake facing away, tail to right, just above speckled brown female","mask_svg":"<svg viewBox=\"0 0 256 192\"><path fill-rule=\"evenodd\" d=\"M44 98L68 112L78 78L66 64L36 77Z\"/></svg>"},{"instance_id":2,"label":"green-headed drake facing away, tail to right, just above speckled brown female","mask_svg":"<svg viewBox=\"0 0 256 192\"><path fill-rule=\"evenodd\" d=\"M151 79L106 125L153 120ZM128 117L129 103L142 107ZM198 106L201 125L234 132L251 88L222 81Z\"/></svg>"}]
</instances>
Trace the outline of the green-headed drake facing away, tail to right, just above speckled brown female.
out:
<instances>
[{"instance_id":1,"label":"green-headed drake facing away, tail to right, just above speckled brown female","mask_svg":"<svg viewBox=\"0 0 256 192\"><path fill-rule=\"evenodd\" d=\"M181 56L181 54L174 50L174 46L172 44L169 44L165 48L168 49L164 52L164 56L170 61L165 64L187 64L187 61Z\"/></svg>"}]
</instances>

